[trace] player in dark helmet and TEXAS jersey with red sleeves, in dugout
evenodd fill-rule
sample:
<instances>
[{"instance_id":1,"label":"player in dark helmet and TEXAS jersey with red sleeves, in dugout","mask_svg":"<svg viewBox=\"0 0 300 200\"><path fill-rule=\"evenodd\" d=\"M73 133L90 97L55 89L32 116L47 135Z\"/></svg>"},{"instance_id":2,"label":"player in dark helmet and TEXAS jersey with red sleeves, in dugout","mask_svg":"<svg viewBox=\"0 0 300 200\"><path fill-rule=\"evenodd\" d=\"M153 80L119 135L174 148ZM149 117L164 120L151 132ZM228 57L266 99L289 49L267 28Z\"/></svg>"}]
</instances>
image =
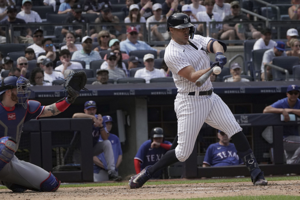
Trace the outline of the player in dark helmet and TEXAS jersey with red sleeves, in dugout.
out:
<instances>
[{"instance_id":1,"label":"player in dark helmet and TEXAS jersey with red sleeves, in dugout","mask_svg":"<svg viewBox=\"0 0 300 200\"><path fill-rule=\"evenodd\" d=\"M144 142L134 157L134 168L136 173L140 173L145 167L154 165L161 157L170 150L172 143L164 140L164 130L153 128L150 132L150 140ZM161 177L161 170L153 175L153 178Z\"/></svg>"}]
</instances>

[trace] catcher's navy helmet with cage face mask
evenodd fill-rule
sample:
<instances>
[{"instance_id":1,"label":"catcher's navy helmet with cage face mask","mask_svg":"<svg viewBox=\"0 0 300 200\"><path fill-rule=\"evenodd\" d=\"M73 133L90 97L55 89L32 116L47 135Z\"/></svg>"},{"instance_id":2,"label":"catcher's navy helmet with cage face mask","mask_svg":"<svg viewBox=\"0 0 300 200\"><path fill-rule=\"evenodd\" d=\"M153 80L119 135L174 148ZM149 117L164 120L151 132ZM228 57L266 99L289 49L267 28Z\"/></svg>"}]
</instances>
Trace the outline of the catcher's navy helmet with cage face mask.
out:
<instances>
[{"instance_id":1,"label":"catcher's navy helmet with cage face mask","mask_svg":"<svg viewBox=\"0 0 300 200\"><path fill-rule=\"evenodd\" d=\"M2 94L5 91L16 88L18 104L21 104L24 108L27 108L27 100L31 92L27 90L28 86L30 86L30 82L24 77L17 77L17 76L5 77L4 79L1 80L1 84L0 84L1 98L2 98Z\"/></svg>"}]
</instances>

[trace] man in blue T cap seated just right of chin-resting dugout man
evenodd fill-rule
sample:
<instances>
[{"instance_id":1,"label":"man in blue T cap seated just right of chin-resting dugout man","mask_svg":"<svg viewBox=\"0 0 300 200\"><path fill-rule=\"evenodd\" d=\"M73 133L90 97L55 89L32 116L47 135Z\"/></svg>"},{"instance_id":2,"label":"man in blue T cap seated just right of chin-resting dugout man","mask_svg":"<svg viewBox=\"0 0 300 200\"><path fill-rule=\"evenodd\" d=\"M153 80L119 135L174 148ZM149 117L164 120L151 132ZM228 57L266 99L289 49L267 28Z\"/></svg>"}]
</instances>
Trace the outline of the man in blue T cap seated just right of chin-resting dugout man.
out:
<instances>
[{"instance_id":1,"label":"man in blue T cap seated just right of chin-resting dugout man","mask_svg":"<svg viewBox=\"0 0 300 200\"><path fill-rule=\"evenodd\" d=\"M113 148L113 156L115 159L115 168L116 174L118 174L118 168L122 162L122 148L121 143L118 136L110 133L113 127L113 119L112 117L106 115L103 116L103 126L108 133L108 141L110 141L112 148ZM101 136L99 137L99 142L103 141ZM94 161L94 181L107 181L108 178L108 171L107 171L107 161L105 159L104 153L99 154L98 156L93 157Z\"/></svg>"}]
</instances>

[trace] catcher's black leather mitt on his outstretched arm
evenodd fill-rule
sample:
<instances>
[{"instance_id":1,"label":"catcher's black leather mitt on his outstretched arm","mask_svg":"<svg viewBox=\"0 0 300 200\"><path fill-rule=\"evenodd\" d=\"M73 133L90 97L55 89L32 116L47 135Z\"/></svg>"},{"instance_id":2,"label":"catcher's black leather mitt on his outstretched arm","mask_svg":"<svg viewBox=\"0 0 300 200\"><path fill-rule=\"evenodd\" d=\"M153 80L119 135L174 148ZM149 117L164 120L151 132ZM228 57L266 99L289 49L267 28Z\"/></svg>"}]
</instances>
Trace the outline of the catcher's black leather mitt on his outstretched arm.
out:
<instances>
[{"instance_id":1,"label":"catcher's black leather mitt on his outstretched arm","mask_svg":"<svg viewBox=\"0 0 300 200\"><path fill-rule=\"evenodd\" d=\"M79 96L80 90L88 90L84 86L86 84L86 74L85 71L73 71L70 73L66 79L64 79L64 91L68 93L67 101L73 103L75 99Z\"/></svg>"}]
</instances>

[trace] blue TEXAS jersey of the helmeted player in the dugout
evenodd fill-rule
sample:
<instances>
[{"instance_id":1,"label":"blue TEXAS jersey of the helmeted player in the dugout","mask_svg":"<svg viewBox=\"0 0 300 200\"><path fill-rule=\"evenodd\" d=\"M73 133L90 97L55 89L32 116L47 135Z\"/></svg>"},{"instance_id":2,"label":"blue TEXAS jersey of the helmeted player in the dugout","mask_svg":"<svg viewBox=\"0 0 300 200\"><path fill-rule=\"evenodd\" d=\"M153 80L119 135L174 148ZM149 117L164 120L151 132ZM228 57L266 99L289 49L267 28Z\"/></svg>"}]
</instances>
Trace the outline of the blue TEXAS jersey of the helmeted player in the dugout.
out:
<instances>
[{"instance_id":1,"label":"blue TEXAS jersey of the helmeted player in the dugout","mask_svg":"<svg viewBox=\"0 0 300 200\"><path fill-rule=\"evenodd\" d=\"M151 148L151 140L147 140L144 142L140 149L137 152L137 155L135 155L134 159L138 159L141 161L141 170L143 170L145 167L149 165L154 165L163 155L168 151L164 149L163 147L159 148ZM172 144L169 141L163 141L163 144ZM158 171L153 177L159 177L161 174L161 171Z\"/></svg>"}]
</instances>

